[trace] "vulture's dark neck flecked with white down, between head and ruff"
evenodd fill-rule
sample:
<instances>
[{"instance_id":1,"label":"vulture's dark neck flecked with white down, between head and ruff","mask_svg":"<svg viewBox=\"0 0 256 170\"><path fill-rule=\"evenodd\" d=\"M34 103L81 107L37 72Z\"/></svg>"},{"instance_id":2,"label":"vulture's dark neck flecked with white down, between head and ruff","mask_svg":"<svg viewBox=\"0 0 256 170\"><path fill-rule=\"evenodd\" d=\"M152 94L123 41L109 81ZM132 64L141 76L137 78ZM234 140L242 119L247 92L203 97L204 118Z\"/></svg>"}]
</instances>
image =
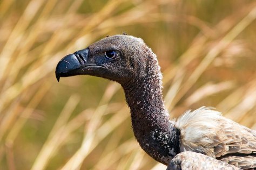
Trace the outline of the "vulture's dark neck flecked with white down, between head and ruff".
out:
<instances>
[{"instance_id":1,"label":"vulture's dark neck flecked with white down, between head and ruff","mask_svg":"<svg viewBox=\"0 0 256 170\"><path fill-rule=\"evenodd\" d=\"M143 150L168 165L180 152L179 130L169 121L161 91L161 72L157 60L146 68L146 75L122 84L131 110L134 136Z\"/></svg>"}]
</instances>

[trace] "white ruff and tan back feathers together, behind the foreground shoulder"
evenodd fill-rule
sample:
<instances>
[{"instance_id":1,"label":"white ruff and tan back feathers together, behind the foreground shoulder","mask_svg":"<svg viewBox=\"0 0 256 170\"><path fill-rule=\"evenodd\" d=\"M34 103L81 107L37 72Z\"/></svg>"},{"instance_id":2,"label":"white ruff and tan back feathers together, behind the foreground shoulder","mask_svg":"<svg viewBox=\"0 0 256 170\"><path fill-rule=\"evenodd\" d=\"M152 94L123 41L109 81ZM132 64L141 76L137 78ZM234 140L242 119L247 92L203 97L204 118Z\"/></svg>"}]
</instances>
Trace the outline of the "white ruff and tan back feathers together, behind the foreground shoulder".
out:
<instances>
[{"instance_id":1,"label":"white ruff and tan back feathers together, behind the foreground shoulder","mask_svg":"<svg viewBox=\"0 0 256 170\"><path fill-rule=\"evenodd\" d=\"M232 165L244 168L251 162L250 166L256 168L251 161L256 159L256 131L205 107L187 112L176 125L181 131L181 151L199 152L226 162L234 161L235 156L235 160L241 158L240 164Z\"/></svg>"}]
</instances>

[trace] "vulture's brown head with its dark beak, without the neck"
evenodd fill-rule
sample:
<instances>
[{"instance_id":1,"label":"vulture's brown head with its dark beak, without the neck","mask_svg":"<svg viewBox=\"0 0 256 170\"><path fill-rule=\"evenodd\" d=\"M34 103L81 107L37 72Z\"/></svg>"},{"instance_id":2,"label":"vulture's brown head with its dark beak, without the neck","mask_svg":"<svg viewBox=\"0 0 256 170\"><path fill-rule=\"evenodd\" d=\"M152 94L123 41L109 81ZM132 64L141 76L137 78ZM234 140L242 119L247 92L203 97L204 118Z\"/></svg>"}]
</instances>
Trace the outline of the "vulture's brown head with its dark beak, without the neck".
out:
<instances>
[{"instance_id":1,"label":"vulture's brown head with its dark beak, without the neck","mask_svg":"<svg viewBox=\"0 0 256 170\"><path fill-rule=\"evenodd\" d=\"M122 85L146 74L149 60L155 57L140 38L127 35L106 37L89 47L66 55L56 67L56 77L92 75Z\"/></svg>"}]
</instances>

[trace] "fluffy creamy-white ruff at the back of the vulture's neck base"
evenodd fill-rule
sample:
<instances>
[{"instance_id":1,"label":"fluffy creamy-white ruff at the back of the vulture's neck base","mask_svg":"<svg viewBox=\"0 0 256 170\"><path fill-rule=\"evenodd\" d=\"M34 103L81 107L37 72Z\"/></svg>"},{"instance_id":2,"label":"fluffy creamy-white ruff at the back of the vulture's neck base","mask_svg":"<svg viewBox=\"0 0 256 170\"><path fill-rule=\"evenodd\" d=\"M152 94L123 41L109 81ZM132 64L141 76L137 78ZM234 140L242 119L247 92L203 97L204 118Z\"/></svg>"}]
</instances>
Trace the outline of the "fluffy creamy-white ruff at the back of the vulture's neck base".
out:
<instances>
[{"instance_id":1,"label":"fluffy creamy-white ruff at the back of the vulture's neck base","mask_svg":"<svg viewBox=\"0 0 256 170\"><path fill-rule=\"evenodd\" d=\"M212 108L201 107L192 112L186 111L175 124L181 132L181 151L200 152L200 146L210 147L213 136L221 128L218 121L223 118L220 112Z\"/></svg>"}]
</instances>

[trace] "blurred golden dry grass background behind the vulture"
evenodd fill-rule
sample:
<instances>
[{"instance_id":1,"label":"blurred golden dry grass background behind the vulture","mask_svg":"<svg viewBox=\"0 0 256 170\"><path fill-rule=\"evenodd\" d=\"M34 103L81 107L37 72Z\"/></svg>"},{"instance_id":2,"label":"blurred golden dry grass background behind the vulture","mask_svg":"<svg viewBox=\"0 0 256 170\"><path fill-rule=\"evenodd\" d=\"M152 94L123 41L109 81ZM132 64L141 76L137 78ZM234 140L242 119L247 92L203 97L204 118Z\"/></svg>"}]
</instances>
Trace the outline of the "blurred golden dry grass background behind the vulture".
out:
<instances>
[{"instance_id":1,"label":"blurred golden dry grass background behind the vulture","mask_svg":"<svg viewBox=\"0 0 256 170\"><path fill-rule=\"evenodd\" d=\"M256 2L0 1L0 169L165 169L139 147L119 84L62 78L107 35L145 40L171 118L202 105L256 129Z\"/></svg>"}]
</instances>

